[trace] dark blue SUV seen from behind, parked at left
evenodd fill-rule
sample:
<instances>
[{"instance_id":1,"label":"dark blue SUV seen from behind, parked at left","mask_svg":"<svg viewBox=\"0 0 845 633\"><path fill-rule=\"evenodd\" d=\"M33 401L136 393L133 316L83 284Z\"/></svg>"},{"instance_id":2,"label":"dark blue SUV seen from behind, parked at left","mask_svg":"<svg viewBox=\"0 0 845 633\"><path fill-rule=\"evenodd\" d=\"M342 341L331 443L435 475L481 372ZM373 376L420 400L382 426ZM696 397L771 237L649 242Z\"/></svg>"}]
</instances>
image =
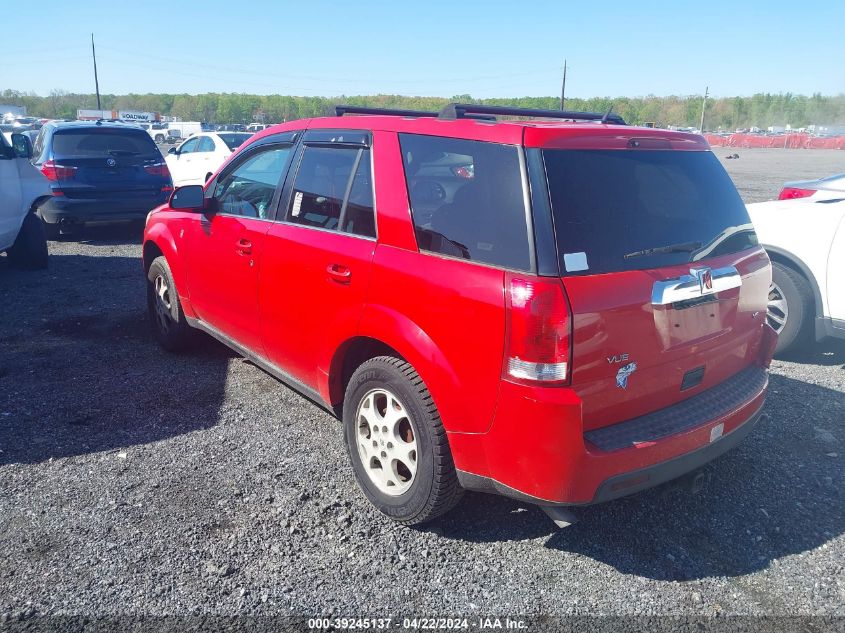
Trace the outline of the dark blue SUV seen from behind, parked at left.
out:
<instances>
[{"instance_id":1,"label":"dark blue SUV seen from behind, parked at left","mask_svg":"<svg viewBox=\"0 0 845 633\"><path fill-rule=\"evenodd\" d=\"M50 239L86 222L143 219L173 191L158 147L132 124L48 123L32 162L50 181L52 195L38 208Z\"/></svg>"}]
</instances>

